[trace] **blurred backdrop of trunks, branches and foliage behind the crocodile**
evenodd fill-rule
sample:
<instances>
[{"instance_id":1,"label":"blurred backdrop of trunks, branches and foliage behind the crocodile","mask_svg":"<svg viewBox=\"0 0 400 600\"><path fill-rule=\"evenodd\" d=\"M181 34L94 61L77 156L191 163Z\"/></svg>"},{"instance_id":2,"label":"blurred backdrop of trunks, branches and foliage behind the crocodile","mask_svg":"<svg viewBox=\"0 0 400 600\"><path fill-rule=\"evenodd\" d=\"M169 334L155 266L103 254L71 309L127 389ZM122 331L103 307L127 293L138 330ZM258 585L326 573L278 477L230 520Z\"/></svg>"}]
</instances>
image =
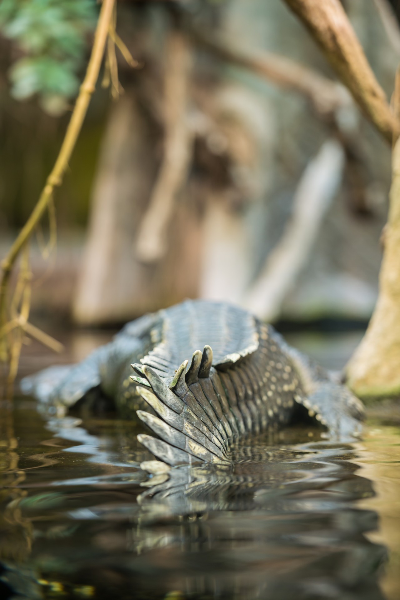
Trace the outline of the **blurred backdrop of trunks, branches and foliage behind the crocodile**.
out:
<instances>
[{"instance_id":1,"label":"blurred backdrop of trunks, branches and foliage behind the crocodile","mask_svg":"<svg viewBox=\"0 0 400 600\"><path fill-rule=\"evenodd\" d=\"M398 3L343 4L390 97ZM2 2L0 256L55 161L97 13ZM117 32L138 65L117 49L98 82L56 191L56 244L51 214L34 240L32 320L119 325L203 297L366 323L390 148L302 25L279 0L126 0Z\"/></svg>"}]
</instances>

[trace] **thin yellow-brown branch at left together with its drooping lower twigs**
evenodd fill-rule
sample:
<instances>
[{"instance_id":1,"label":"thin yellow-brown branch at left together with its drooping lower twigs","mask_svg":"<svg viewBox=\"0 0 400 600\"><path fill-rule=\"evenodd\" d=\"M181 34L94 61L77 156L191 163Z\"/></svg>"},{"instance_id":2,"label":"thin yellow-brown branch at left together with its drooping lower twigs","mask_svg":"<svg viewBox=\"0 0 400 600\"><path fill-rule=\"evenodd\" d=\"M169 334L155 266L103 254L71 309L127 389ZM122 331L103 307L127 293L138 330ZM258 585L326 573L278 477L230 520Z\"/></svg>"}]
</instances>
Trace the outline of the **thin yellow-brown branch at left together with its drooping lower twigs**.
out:
<instances>
[{"instance_id":1,"label":"thin yellow-brown branch at left together with its drooping lower twigs","mask_svg":"<svg viewBox=\"0 0 400 600\"><path fill-rule=\"evenodd\" d=\"M16 369L19 361L19 353L20 353L20 344L22 343L22 330L26 331L28 326L28 316L29 316L29 305L30 305L30 287L29 287L29 297L27 296L28 287L23 283L23 279L26 281L30 280L30 277L27 277L26 272L28 272L28 259L23 260L23 264L20 269L20 279L17 283L16 292L19 292L19 284L22 281L23 292L21 292L22 296L22 308L20 310L19 316L14 316L11 314L12 322L16 322L19 326L16 328L17 339L14 340L15 343L10 344L9 352L5 352L4 349L7 348L7 322L8 322L8 309L7 309L7 300L8 300L8 284L10 282L11 272L13 270L13 266L16 263L17 258L19 257L20 252L25 247L26 252L29 253L29 240L34 232L35 228L40 223L41 217L49 206L49 203L53 199L53 191L54 188L58 185L62 184L62 179L64 177L65 171L68 168L68 163L70 161L71 154L73 152L74 146L76 145L77 138L79 136L80 130L82 128L83 121L86 116L86 112L88 110L89 102L91 100L91 96L95 90L95 84L98 79L98 74L100 72L101 62L103 60L104 49L106 47L107 38L109 36L110 26L112 25L113 13L115 10L116 0L104 0L100 10L100 16L97 23L97 29L94 37L94 44L92 48L91 58L89 59L88 68L86 70L85 79L83 80L82 86L80 87L79 96L77 98L73 113L71 115L71 120L68 124L67 131L65 133L64 141L62 142L61 149L59 151L59 155L56 159L55 166L53 167L52 172L47 178L46 185L40 195L40 198L35 206L34 210L31 213L31 216L26 221L25 226L23 226L20 231L17 239L14 241L10 250L8 251L7 256L4 260L2 260L1 268L2 268L2 277L0 283L0 343L2 344L2 355L10 355L11 356L11 366L9 372L9 382L12 382L15 375ZM17 307L19 302L15 302L16 296L14 295L13 305ZM23 320L23 327L20 326ZM21 323L20 323L21 321ZM41 338L41 341L44 343L48 343L50 346L55 346L50 342L50 337L46 336L46 334L38 335L37 328L33 326L28 326L28 332L34 337ZM61 346L61 344L59 345ZM58 346L58 348L59 348Z\"/></svg>"}]
</instances>

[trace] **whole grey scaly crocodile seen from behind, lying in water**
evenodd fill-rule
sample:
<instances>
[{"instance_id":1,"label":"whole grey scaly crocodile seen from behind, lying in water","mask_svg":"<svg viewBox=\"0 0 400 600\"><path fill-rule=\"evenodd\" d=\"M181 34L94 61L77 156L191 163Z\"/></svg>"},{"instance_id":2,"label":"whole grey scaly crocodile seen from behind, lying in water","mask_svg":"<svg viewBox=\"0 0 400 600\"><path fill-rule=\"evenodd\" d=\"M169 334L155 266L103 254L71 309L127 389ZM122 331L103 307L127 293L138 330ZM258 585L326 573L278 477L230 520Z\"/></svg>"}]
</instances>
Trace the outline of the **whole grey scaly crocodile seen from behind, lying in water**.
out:
<instances>
[{"instance_id":1,"label":"whole grey scaly crocodile seen from behind, lying in water","mask_svg":"<svg viewBox=\"0 0 400 600\"><path fill-rule=\"evenodd\" d=\"M140 443L170 466L229 464L240 439L287 425L299 406L341 439L357 436L363 418L360 400L272 326L201 300L128 323L80 364L22 380L22 390L53 412L92 389L125 415L136 413L157 436L140 433ZM148 470L163 472L158 465Z\"/></svg>"}]
</instances>

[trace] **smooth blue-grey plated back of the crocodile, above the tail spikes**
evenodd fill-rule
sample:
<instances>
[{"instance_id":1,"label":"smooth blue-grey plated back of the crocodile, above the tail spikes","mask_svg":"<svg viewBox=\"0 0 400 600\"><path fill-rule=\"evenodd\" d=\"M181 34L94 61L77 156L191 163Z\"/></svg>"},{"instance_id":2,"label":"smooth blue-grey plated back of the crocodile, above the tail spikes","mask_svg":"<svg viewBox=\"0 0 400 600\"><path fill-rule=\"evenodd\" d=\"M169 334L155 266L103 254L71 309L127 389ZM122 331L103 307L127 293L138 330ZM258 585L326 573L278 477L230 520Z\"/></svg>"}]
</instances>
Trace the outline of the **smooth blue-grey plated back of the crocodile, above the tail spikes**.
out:
<instances>
[{"instance_id":1,"label":"smooth blue-grey plated back of the crocodile, above the tail spikes","mask_svg":"<svg viewBox=\"0 0 400 600\"><path fill-rule=\"evenodd\" d=\"M194 352L212 348L212 366L226 370L258 348L254 317L225 302L188 300L160 311L161 341L141 359L160 377L172 381ZM193 367L192 367L193 371Z\"/></svg>"}]
</instances>

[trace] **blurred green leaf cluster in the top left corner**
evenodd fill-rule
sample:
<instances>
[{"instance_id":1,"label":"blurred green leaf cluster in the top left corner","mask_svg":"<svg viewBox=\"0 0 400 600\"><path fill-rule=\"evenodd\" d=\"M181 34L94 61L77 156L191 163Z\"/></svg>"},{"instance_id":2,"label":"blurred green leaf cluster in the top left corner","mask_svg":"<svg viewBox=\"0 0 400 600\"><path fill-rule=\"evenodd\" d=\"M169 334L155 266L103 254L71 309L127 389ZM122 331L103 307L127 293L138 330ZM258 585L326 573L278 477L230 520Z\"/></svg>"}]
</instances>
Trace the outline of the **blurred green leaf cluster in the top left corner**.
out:
<instances>
[{"instance_id":1,"label":"blurred green leaf cluster in the top left corner","mask_svg":"<svg viewBox=\"0 0 400 600\"><path fill-rule=\"evenodd\" d=\"M50 110L76 95L97 11L95 0L0 0L0 31L25 53L10 69L14 98L39 94Z\"/></svg>"}]
</instances>

